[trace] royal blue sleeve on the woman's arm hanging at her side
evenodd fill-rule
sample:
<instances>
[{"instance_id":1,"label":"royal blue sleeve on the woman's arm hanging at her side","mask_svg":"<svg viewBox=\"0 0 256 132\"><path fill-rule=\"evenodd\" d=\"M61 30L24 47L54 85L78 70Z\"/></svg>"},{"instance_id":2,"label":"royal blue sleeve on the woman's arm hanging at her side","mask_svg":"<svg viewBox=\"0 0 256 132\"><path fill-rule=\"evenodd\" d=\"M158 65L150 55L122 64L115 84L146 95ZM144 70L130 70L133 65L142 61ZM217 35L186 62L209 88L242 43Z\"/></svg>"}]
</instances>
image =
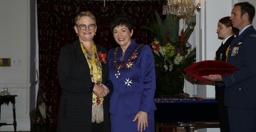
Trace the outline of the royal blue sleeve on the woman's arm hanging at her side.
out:
<instances>
[{"instance_id":1,"label":"royal blue sleeve on the woman's arm hanging at her side","mask_svg":"<svg viewBox=\"0 0 256 132\"><path fill-rule=\"evenodd\" d=\"M144 91L140 100L139 111L150 113L156 90L156 73L153 53L148 45L141 49L140 68Z\"/></svg>"}]
</instances>

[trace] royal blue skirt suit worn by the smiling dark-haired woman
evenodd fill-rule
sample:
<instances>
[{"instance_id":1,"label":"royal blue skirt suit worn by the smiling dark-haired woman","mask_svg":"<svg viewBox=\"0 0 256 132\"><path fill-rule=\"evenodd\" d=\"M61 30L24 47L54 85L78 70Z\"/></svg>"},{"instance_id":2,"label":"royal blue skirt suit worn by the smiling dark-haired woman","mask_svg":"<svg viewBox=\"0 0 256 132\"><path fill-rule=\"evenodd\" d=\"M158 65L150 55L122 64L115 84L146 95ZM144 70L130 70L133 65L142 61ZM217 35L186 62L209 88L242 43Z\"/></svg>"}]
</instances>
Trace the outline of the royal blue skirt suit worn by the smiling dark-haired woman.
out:
<instances>
[{"instance_id":1,"label":"royal blue skirt suit worn by the smiling dark-haired woman","mask_svg":"<svg viewBox=\"0 0 256 132\"><path fill-rule=\"evenodd\" d=\"M111 131L136 132L138 119L133 122L139 111L148 113L148 127L143 132L154 132L155 121L154 94L156 89L155 65L153 53L148 45L142 45L137 52L139 44L132 43L125 51L123 61L122 49L111 49L108 54L109 80L113 84L110 97ZM135 59L118 70L125 64L133 53L138 53ZM116 54L116 66L114 65Z\"/></svg>"}]
</instances>

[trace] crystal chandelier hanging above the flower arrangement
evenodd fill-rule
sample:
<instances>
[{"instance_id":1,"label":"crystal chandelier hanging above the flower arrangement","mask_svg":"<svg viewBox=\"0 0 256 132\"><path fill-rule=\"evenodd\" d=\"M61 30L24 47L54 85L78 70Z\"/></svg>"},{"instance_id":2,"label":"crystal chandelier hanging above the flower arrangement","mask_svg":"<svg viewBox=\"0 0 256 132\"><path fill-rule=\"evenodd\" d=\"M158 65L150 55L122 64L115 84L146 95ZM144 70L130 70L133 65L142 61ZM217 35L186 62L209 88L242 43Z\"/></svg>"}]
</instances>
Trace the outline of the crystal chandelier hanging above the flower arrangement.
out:
<instances>
[{"instance_id":1,"label":"crystal chandelier hanging above the flower arrangement","mask_svg":"<svg viewBox=\"0 0 256 132\"><path fill-rule=\"evenodd\" d=\"M195 22L195 6L192 0L167 0L163 6L163 15L176 15L187 23Z\"/></svg>"}]
</instances>

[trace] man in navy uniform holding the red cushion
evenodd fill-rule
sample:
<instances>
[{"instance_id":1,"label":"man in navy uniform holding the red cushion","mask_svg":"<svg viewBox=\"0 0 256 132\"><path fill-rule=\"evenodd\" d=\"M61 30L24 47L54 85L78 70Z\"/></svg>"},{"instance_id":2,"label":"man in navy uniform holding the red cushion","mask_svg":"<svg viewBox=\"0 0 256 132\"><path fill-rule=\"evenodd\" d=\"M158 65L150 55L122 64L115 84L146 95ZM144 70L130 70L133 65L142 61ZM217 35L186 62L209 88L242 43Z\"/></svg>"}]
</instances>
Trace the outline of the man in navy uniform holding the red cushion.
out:
<instances>
[{"instance_id":1,"label":"man in navy uniform holding the red cushion","mask_svg":"<svg viewBox=\"0 0 256 132\"><path fill-rule=\"evenodd\" d=\"M228 63L238 70L227 75L202 78L226 87L224 104L228 107L231 132L256 132L256 31L252 26L255 8L248 2L234 5L230 20L239 34L230 44Z\"/></svg>"}]
</instances>

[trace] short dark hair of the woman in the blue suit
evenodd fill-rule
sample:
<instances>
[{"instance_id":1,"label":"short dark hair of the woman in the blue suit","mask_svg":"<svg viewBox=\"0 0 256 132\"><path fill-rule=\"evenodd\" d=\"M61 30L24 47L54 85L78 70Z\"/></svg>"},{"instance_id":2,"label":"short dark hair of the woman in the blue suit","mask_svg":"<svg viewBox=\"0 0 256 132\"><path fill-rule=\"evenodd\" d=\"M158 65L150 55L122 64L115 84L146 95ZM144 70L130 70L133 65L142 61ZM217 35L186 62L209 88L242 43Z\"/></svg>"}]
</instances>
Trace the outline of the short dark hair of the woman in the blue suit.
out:
<instances>
[{"instance_id":1,"label":"short dark hair of the woman in the blue suit","mask_svg":"<svg viewBox=\"0 0 256 132\"><path fill-rule=\"evenodd\" d=\"M109 28L111 32L113 33L114 28L118 26L127 26L129 31L132 32L133 21L131 16L127 16L127 15L114 16L109 22Z\"/></svg>"}]
</instances>

